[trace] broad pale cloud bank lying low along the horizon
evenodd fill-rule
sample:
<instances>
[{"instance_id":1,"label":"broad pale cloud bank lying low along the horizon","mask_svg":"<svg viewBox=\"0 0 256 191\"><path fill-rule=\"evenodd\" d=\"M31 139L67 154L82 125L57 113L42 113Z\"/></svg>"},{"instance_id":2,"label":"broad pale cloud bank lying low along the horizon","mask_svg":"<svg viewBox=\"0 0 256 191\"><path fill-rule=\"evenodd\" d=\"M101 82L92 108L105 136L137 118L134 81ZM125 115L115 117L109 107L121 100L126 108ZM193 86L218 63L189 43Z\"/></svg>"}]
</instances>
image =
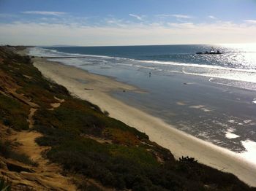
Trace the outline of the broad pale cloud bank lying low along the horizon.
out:
<instances>
[{"instance_id":1,"label":"broad pale cloud bank lying low along the horizon","mask_svg":"<svg viewBox=\"0 0 256 191\"><path fill-rule=\"evenodd\" d=\"M118 21L121 23L121 20ZM111 23L111 22L110 22ZM83 26L50 23L1 23L1 44L132 45L256 42L256 26L246 23L168 23Z\"/></svg>"}]
</instances>

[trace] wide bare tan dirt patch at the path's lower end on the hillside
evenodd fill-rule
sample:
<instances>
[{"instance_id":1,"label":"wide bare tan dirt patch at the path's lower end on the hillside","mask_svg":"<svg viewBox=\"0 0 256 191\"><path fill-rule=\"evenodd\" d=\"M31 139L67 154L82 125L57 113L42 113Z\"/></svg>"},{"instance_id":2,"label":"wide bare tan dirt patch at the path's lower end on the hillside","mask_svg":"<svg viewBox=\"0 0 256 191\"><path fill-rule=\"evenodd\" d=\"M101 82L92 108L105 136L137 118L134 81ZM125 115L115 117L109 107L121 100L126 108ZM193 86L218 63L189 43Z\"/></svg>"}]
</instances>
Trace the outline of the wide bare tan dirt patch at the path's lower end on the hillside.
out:
<instances>
[{"instance_id":1,"label":"wide bare tan dirt patch at the path's lower end on the hillside","mask_svg":"<svg viewBox=\"0 0 256 191\"><path fill-rule=\"evenodd\" d=\"M32 185L35 190L75 190L75 186L71 184L66 176L62 176L61 168L54 163L49 163L42 157L49 147L39 147L35 143L35 139L42 136L36 131L20 132L12 136L12 139L21 144L19 151L26 153L31 160L38 163L37 167L32 168L34 172L21 172L19 174L23 184ZM37 182L37 184L34 184Z\"/></svg>"}]
</instances>

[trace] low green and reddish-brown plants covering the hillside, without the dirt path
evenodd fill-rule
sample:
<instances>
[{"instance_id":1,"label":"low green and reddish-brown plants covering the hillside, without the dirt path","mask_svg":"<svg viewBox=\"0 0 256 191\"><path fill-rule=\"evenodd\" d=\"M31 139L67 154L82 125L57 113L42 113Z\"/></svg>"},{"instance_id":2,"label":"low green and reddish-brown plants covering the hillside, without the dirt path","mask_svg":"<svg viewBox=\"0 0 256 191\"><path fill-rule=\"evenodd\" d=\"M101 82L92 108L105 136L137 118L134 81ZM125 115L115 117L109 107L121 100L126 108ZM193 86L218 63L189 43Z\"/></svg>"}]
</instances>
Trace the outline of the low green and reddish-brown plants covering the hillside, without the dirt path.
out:
<instances>
[{"instance_id":1,"label":"low green and reddish-brown plants covering the hillside, without the dirt path","mask_svg":"<svg viewBox=\"0 0 256 191\"><path fill-rule=\"evenodd\" d=\"M37 143L50 146L45 157L59 163L68 174L83 177L82 181L74 179L81 190L255 190L233 174L197 163L194 158L175 160L169 150L151 142L145 133L108 117L108 112L72 97L66 88L43 78L28 57L3 47L0 53L0 71L18 85L17 93L38 105L34 130L43 134ZM56 98L64 102L49 110ZM2 124L14 130L28 128L30 108L0 92ZM7 157L10 151L1 149L0 155ZM88 179L100 186L88 184Z\"/></svg>"}]
</instances>

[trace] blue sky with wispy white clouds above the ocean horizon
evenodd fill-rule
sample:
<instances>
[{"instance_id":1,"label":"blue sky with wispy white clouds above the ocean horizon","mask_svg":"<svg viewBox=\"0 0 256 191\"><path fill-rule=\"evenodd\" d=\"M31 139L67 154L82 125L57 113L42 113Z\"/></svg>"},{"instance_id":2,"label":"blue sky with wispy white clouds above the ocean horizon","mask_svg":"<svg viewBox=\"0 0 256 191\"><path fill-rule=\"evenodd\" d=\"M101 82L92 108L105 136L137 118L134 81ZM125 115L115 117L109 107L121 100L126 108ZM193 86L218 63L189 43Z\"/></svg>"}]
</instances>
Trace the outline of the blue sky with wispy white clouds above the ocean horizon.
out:
<instances>
[{"instance_id":1,"label":"blue sky with wispy white clouds above the ocean horizon","mask_svg":"<svg viewBox=\"0 0 256 191\"><path fill-rule=\"evenodd\" d=\"M256 0L0 0L0 44L256 43Z\"/></svg>"}]
</instances>

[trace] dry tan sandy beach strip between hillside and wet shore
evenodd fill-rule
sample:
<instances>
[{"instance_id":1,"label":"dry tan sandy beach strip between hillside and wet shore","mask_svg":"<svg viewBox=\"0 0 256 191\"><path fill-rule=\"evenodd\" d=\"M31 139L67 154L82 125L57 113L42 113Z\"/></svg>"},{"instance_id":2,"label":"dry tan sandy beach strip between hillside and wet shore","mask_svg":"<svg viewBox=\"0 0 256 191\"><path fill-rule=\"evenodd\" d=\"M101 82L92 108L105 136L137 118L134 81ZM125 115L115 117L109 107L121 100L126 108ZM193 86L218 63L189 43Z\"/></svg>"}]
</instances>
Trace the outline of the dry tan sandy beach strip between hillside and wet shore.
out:
<instances>
[{"instance_id":1,"label":"dry tan sandy beach strip between hillside and wet shore","mask_svg":"<svg viewBox=\"0 0 256 191\"><path fill-rule=\"evenodd\" d=\"M112 90L140 92L138 88L45 58L34 58L34 66L45 77L67 87L73 95L97 104L102 111L108 111L110 117L145 132L151 141L170 149L176 158L182 155L195 157L200 163L235 174L247 184L256 186L256 166L242 160L236 153L189 136L109 95Z\"/></svg>"}]
</instances>

